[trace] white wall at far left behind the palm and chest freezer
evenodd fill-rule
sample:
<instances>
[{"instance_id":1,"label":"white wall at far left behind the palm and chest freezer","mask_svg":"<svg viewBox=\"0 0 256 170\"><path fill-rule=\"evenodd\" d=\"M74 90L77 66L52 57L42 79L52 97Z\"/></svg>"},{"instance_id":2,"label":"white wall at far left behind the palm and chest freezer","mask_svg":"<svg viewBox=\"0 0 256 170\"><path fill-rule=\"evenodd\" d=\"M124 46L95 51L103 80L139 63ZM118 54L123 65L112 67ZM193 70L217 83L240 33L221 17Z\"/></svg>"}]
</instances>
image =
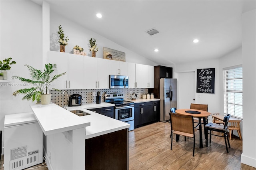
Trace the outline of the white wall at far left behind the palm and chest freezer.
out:
<instances>
[{"instance_id":1,"label":"white wall at far left behind the palm and chest freezer","mask_svg":"<svg viewBox=\"0 0 256 170\"><path fill-rule=\"evenodd\" d=\"M0 1L0 3L0 60L12 57L17 62L12 64L11 69L8 70L8 79L14 75L29 77L25 64L38 69L42 67L41 6L31 1ZM23 85L20 85L21 82L11 79L8 83L7 86L5 83L0 83L1 130L4 130L5 115L32 111L29 106L32 104L31 101L22 101L22 96L12 96L14 91L24 88ZM2 141L4 141L4 133ZM2 146L4 145L2 144Z\"/></svg>"}]
</instances>

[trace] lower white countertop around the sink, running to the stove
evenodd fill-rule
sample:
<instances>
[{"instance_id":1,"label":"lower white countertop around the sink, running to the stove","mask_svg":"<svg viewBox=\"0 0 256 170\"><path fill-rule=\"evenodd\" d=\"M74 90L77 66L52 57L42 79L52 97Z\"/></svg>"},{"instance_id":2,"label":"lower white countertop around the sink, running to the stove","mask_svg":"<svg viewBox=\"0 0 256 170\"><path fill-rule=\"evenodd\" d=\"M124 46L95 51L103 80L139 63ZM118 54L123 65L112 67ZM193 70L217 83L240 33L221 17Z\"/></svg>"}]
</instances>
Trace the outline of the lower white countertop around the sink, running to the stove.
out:
<instances>
[{"instance_id":1,"label":"lower white countertop around the sink, running to the stove","mask_svg":"<svg viewBox=\"0 0 256 170\"><path fill-rule=\"evenodd\" d=\"M89 121L91 125L89 127L85 128L85 138L93 138L96 136L100 136L103 134L108 134L111 132L115 132L118 130L122 130L125 128L129 128L130 124L118 121L116 119L112 119L110 117L101 115L99 113L95 113L92 111L89 111L87 109L92 109L92 108L101 108L101 107L110 107L114 106L113 104L110 103L89 103L89 104L84 104L82 106L73 106L73 107L67 107L69 111L72 110L82 110L86 113L90 113L91 115L87 116L82 116L80 117L81 119L84 119L86 121Z\"/></svg>"}]
</instances>

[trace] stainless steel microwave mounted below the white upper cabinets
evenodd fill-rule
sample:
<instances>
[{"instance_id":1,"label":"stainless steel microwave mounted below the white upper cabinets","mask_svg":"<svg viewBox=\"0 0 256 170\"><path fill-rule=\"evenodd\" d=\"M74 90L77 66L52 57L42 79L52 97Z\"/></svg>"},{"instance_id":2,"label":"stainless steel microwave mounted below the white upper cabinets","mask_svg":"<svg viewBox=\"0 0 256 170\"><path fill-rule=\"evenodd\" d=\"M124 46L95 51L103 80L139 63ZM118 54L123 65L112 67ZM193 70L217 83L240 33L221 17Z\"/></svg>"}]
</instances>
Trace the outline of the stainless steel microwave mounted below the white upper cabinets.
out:
<instances>
[{"instance_id":1,"label":"stainless steel microwave mounted below the white upper cabinets","mask_svg":"<svg viewBox=\"0 0 256 170\"><path fill-rule=\"evenodd\" d=\"M109 75L109 88L128 88L129 76Z\"/></svg>"}]
</instances>

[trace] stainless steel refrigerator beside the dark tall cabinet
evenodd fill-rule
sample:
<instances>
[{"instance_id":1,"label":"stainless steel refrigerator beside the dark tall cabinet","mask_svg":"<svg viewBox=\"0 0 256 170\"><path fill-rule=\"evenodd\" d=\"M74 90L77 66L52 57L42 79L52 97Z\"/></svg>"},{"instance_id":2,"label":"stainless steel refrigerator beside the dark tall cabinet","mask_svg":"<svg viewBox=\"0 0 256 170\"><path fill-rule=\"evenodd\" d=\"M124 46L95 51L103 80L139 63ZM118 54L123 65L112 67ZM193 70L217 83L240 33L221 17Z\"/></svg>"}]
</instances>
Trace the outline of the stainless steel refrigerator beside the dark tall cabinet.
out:
<instances>
[{"instance_id":1,"label":"stainless steel refrigerator beside the dark tall cabinet","mask_svg":"<svg viewBox=\"0 0 256 170\"><path fill-rule=\"evenodd\" d=\"M170 121L170 108L177 108L177 79L160 79L160 121Z\"/></svg>"}]
</instances>

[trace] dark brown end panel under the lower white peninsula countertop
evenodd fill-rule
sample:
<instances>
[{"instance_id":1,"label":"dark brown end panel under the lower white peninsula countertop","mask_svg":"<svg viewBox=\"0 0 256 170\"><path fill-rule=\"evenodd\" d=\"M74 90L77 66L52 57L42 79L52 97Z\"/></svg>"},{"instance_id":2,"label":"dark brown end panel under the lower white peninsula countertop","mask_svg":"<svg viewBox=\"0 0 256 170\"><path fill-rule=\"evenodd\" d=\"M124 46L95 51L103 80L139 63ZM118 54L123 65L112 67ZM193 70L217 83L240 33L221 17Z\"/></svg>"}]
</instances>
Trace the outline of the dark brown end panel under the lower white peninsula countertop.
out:
<instances>
[{"instance_id":1,"label":"dark brown end panel under the lower white peninsula countertop","mask_svg":"<svg viewBox=\"0 0 256 170\"><path fill-rule=\"evenodd\" d=\"M128 170L128 128L85 140L86 170Z\"/></svg>"}]
</instances>

